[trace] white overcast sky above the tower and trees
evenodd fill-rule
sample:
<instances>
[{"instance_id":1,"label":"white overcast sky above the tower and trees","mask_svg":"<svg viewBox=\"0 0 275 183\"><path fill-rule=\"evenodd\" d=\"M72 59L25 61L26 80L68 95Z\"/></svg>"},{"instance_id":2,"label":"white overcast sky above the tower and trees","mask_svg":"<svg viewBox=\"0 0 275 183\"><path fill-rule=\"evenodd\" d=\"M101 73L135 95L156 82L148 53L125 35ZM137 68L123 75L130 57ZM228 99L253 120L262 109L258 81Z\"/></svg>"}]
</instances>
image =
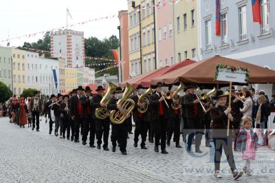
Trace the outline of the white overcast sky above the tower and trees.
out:
<instances>
[{"instance_id":1,"label":"white overcast sky above the tower and trees","mask_svg":"<svg viewBox=\"0 0 275 183\"><path fill-rule=\"evenodd\" d=\"M90 19L97 19L115 14L113 19L102 19L77 25L72 30L83 31L85 38L96 36L104 39L112 34L118 36L118 11L127 10L126 0L8 0L0 5L0 45L2 40L42 30L51 30L66 25L66 7L72 14L68 24L74 24ZM24 41L34 42L42 39L38 34L34 37L24 37L10 40L10 46L23 45Z\"/></svg>"}]
</instances>

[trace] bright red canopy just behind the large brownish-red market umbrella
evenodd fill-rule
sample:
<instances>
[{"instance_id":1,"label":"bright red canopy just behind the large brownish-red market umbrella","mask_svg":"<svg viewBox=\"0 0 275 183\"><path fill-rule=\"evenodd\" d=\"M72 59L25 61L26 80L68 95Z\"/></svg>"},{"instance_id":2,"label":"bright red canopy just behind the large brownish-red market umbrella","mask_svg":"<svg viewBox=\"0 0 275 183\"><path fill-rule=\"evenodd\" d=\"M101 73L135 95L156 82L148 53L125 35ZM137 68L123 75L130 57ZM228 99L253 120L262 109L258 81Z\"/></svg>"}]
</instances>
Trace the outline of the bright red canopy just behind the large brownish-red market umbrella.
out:
<instances>
[{"instance_id":1,"label":"bright red canopy just behind the large brownish-red market umbrella","mask_svg":"<svg viewBox=\"0 0 275 183\"><path fill-rule=\"evenodd\" d=\"M166 74L168 72L172 72L175 69L179 69L181 67L184 67L186 65L190 65L192 63L195 63L195 61L190 60L187 58L185 61L182 61L180 63L177 63L175 65L172 65L170 67L165 67L164 69L157 70L150 74L149 76L146 76L145 78L142 78L139 82L135 83L136 85L142 85L142 87L150 87L151 86L151 79L152 78L157 78L159 76L162 76L163 74Z\"/></svg>"}]
</instances>

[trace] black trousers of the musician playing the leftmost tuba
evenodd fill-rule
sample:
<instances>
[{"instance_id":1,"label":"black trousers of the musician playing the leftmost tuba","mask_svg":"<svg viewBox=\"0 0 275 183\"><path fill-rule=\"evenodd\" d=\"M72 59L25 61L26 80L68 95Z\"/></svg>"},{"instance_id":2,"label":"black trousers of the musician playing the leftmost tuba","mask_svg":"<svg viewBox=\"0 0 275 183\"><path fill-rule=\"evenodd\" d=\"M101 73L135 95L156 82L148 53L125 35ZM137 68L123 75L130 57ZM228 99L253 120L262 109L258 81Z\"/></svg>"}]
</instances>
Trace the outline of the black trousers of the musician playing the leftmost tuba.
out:
<instances>
[{"instance_id":1,"label":"black trousers of the musician playing the leftmost tuba","mask_svg":"<svg viewBox=\"0 0 275 183\"><path fill-rule=\"evenodd\" d=\"M98 145L102 144L103 135L103 148L108 147L108 138L110 131L110 120L95 120L96 122L96 139L98 140Z\"/></svg>"}]
</instances>

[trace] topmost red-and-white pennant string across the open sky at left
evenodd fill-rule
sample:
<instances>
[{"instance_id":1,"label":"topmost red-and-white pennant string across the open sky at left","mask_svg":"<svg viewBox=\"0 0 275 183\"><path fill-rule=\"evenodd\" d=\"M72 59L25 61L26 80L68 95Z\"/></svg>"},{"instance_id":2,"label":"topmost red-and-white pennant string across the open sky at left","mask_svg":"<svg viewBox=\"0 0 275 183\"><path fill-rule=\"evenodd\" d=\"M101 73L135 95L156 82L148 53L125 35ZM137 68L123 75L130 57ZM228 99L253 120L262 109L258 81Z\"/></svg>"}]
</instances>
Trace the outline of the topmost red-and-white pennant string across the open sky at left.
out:
<instances>
[{"instance_id":1,"label":"topmost red-and-white pennant string across the open sky at left","mask_svg":"<svg viewBox=\"0 0 275 183\"><path fill-rule=\"evenodd\" d=\"M13 38L8 38L8 39L1 40L0 43L8 42L8 41L13 40L13 39L30 38L30 37L37 36L39 34L44 35L46 32L54 32L55 30L65 29L67 27L68 28L72 28L72 27L74 27L76 25L83 25L83 24L87 24L87 23L90 23L90 22L93 22L93 21L101 21L101 20L113 19L115 17L117 17L117 14L113 14L113 15L105 16L105 17L100 17L98 19L90 19L88 21L81 21L81 22L74 23L74 24L71 24L71 25L64 25L64 26L62 26L60 28L52 28L50 30L42 30L42 31L35 32L35 33L32 33L32 34L25 34L23 36L17 36L17 37L13 37Z\"/></svg>"}]
</instances>

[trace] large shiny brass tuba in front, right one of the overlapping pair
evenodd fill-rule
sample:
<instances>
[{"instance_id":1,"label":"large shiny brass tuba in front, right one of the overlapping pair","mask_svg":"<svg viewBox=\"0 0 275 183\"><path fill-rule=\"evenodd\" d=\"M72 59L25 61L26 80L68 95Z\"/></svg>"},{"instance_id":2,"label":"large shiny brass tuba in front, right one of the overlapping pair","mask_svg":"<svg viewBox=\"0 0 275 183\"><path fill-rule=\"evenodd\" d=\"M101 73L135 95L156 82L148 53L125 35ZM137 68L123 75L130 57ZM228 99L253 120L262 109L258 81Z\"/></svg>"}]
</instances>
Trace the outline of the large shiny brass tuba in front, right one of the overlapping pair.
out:
<instances>
[{"instance_id":1,"label":"large shiny brass tuba in front, right one of the overlapping pair","mask_svg":"<svg viewBox=\"0 0 275 183\"><path fill-rule=\"evenodd\" d=\"M126 89L123 92L122 98L118 100L118 105L122 105L123 110L113 110L110 114L110 120L115 125L120 125L126 120L126 117L131 114L131 111L133 111L133 108L135 107L135 101L131 98L128 98L133 92L135 92L136 89L130 85L129 83L126 83Z\"/></svg>"}]
</instances>

